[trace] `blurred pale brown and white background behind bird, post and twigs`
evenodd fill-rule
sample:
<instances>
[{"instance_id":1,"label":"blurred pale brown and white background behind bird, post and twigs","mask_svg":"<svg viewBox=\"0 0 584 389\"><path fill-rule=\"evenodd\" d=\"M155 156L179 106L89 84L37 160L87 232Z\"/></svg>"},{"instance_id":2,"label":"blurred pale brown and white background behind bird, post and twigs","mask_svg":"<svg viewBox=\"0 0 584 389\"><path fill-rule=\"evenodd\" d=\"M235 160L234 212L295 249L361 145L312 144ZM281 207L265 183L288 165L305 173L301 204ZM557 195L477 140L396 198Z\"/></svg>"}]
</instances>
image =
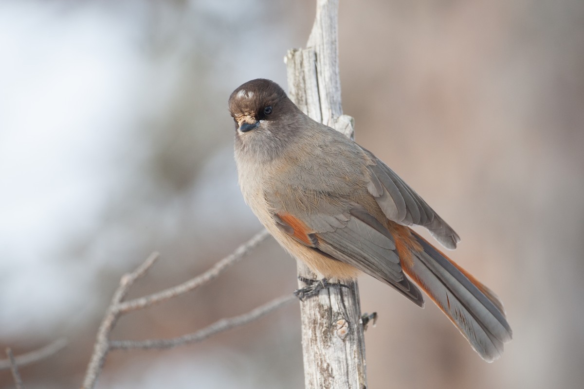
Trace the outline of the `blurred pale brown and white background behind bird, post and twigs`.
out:
<instances>
[{"instance_id":1,"label":"blurred pale brown and white background behind bird, post and twigs","mask_svg":"<svg viewBox=\"0 0 584 389\"><path fill-rule=\"evenodd\" d=\"M132 295L204 271L259 229L237 187L231 91L286 85L314 2L0 3L0 346L67 349L27 388L78 387L120 276ZM584 3L341 1L356 140L460 234L452 257L505 302L514 340L483 362L432 304L363 277L371 388L584 386ZM124 317L172 337L296 288L273 241L212 285ZM300 388L298 306L173 351L115 352L100 388ZM12 387L0 372L0 388Z\"/></svg>"}]
</instances>

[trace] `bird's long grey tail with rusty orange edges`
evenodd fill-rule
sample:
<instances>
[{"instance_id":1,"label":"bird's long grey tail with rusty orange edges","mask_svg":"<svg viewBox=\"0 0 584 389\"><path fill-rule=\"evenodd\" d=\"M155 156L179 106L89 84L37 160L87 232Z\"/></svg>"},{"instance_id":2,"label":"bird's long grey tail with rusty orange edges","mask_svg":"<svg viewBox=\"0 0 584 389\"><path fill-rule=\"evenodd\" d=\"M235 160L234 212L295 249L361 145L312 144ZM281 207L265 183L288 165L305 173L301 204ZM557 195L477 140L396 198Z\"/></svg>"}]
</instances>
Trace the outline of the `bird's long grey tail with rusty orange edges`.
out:
<instances>
[{"instance_id":1,"label":"bird's long grey tail with rusty orange edges","mask_svg":"<svg viewBox=\"0 0 584 389\"><path fill-rule=\"evenodd\" d=\"M410 230L411 231L411 230ZM402 261L404 272L450 318L487 362L499 358L512 331L503 304L489 288L411 231L422 250Z\"/></svg>"}]
</instances>

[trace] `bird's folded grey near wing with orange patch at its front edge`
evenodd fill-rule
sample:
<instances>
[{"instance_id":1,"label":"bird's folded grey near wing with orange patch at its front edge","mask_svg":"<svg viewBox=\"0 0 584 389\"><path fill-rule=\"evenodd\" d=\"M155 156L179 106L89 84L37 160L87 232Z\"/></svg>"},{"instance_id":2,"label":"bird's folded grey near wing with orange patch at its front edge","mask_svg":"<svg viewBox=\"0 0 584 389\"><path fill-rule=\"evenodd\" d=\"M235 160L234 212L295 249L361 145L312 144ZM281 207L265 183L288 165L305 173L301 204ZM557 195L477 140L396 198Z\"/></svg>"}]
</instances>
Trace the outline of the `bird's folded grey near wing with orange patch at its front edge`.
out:
<instances>
[{"instance_id":1,"label":"bird's folded grey near wing with orange patch at its front edge","mask_svg":"<svg viewBox=\"0 0 584 389\"><path fill-rule=\"evenodd\" d=\"M290 215L286 218L290 220ZM281 231L299 243L393 286L423 307L422 293L402 272L391 233L362 206L351 204L347 212L336 217L324 214L305 216L302 222L314 232L301 239L298 239L301 232L294 230L291 225L294 223L287 223L277 214L274 219ZM315 229L315 226L320 228Z\"/></svg>"}]
</instances>

